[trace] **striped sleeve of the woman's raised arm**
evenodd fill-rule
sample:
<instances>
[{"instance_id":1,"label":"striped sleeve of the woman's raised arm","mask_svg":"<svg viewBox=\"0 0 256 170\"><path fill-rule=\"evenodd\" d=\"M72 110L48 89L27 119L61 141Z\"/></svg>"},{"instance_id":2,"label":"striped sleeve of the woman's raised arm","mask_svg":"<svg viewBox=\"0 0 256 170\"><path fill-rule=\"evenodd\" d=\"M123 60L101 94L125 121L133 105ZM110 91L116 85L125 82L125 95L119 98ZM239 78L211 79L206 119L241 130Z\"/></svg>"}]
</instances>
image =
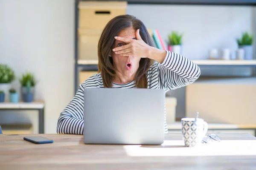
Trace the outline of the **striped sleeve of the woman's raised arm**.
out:
<instances>
[{"instance_id":1,"label":"striped sleeve of the woman's raised arm","mask_svg":"<svg viewBox=\"0 0 256 170\"><path fill-rule=\"evenodd\" d=\"M166 90L174 90L192 84L201 75L201 70L194 62L176 54L166 51L163 63L158 64L159 84Z\"/></svg>"}]
</instances>

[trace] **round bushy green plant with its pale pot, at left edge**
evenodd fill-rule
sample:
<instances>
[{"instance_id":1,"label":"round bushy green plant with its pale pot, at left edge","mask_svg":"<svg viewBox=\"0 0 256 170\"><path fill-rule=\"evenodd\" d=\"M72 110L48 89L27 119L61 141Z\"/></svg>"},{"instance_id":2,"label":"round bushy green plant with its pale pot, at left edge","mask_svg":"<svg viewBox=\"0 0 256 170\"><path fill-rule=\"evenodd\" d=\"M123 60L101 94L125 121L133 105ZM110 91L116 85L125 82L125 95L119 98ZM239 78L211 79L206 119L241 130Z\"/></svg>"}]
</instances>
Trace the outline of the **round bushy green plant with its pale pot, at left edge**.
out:
<instances>
[{"instance_id":1,"label":"round bushy green plant with its pale pot, at left edge","mask_svg":"<svg viewBox=\"0 0 256 170\"><path fill-rule=\"evenodd\" d=\"M12 68L8 65L0 64L0 89L5 94L8 94L9 89L11 88L11 82L15 79L15 74ZM6 95L5 100L8 101L9 96Z\"/></svg>"}]
</instances>

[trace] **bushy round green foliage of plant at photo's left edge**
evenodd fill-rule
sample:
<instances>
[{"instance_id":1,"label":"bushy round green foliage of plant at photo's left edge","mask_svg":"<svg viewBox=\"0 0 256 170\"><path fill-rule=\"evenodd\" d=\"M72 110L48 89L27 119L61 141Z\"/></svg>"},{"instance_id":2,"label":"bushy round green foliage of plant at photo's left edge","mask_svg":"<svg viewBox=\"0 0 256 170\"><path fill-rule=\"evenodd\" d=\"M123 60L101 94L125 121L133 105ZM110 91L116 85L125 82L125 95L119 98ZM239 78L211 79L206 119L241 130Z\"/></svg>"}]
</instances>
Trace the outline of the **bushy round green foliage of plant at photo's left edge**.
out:
<instances>
[{"instance_id":1,"label":"bushy round green foliage of plant at photo's left edge","mask_svg":"<svg viewBox=\"0 0 256 170\"><path fill-rule=\"evenodd\" d=\"M15 79L15 74L12 68L8 65L0 64L0 83L10 83Z\"/></svg>"}]
</instances>

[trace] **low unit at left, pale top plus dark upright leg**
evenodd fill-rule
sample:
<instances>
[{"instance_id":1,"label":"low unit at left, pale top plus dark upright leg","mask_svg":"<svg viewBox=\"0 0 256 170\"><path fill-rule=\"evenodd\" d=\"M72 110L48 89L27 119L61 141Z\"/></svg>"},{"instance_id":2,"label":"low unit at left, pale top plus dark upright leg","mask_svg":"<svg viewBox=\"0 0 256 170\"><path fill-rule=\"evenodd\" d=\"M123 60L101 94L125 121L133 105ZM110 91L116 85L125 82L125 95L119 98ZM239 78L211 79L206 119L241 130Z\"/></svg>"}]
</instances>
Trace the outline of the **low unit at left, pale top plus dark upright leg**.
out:
<instances>
[{"instance_id":1,"label":"low unit at left, pale top plus dark upright leg","mask_svg":"<svg viewBox=\"0 0 256 170\"><path fill-rule=\"evenodd\" d=\"M36 110L39 114L39 133L44 133L44 102L3 102L0 103L0 111Z\"/></svg>"}]
</instances>

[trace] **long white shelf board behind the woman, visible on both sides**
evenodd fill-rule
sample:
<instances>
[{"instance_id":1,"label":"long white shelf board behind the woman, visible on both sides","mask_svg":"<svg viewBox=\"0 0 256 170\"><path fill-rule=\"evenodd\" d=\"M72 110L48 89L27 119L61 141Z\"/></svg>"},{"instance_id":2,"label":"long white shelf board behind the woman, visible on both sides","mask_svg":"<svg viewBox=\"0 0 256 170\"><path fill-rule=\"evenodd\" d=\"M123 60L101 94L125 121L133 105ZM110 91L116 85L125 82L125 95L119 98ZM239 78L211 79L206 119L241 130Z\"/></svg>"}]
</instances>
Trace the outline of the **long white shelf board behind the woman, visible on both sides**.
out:
<instances>
[{"instance_id":1,"label":"long white shelf board behind the woman, visible on both sides","mask_svg":"<svg viewBox=\"0 0 256 170\"><path fill-rule=\"evenodd\" d=\"M206 60L192 60L197 65L255 65L254 60L221 60L221 59L206 59ZM98 60L79 59L77 62L79 65L95 65L98 64Z\"/></svg>"}]
</instances>

